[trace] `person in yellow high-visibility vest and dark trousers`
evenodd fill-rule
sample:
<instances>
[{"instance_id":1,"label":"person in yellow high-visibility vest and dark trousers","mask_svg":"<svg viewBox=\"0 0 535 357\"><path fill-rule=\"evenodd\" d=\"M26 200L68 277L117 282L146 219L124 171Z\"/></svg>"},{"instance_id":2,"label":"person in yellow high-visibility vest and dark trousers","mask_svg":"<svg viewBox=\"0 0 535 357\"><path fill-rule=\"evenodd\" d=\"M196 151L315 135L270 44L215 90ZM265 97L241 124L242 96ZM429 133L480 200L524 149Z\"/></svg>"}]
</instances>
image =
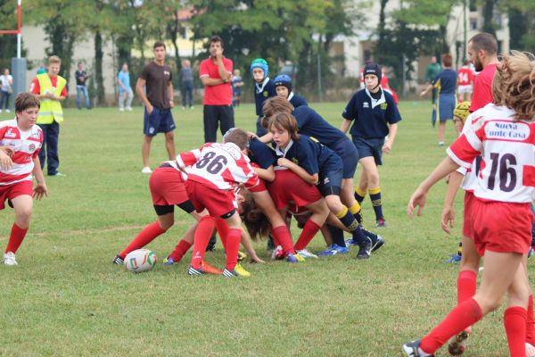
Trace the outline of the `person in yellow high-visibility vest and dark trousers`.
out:
<instances>
[{"instance_id":1,"label":"person in yellow high-visibility vest and dark trousers","mask_svg":"<svg viewBox=\"0 0 535 357\"><path fill-rule=\"evenodd\" d=\"M62 101L67 97L67 80L58 76L62 60L53 55L48 59L46 73L37 74L31 82L29 91L36 94L40 103L37 125L43 130L43 146L39 151L41 169L45 165L48 176L65 176L58 171L60 156L58 141L60 138L60 123L63 121Z\"/></svg>"}]
</instances>

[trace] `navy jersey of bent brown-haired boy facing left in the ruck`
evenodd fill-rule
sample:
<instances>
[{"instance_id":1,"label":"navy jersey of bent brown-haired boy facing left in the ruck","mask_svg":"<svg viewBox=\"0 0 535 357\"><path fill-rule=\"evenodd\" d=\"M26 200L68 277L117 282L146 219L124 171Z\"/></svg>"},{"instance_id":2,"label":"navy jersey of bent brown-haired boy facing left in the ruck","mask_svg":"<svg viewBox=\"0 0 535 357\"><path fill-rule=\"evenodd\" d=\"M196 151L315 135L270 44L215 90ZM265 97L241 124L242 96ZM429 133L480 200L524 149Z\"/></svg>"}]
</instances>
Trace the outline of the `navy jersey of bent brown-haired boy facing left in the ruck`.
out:
<instances>
[{"instance_id":1,"label":"navy jersey of bent brown-haired boy facing left in the ruck","mask_svg":"<svg viewBox=\"0 0 535 357\"><path fill-rule=\"evenodd\" d=\"M298 140L291 140L284 151L277 147L276 154L299 165L310 175L342 167L342 160L333 150L314 137L306 135L300 135Z\"/></svg>"}]
</instances>

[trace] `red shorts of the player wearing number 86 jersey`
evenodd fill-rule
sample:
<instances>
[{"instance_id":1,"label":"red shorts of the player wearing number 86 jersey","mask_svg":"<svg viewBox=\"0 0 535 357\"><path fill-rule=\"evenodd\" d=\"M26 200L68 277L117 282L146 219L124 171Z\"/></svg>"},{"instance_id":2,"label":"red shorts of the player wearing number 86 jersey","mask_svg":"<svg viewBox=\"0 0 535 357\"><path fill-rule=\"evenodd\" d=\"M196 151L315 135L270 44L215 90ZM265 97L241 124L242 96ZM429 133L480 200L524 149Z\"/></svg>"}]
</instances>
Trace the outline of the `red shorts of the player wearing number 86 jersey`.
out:
<instances>
[{"instance_id":1,"label":"red shorts of the player wearing number 86 jersey","mask_svg":"<svg viewBox=\"0 0 535 357\"><path fill-rule=\"evenodd\" d=\"M219 218L235 210L234 191L208 187L201 182L187 180L185 191L195 207L195 211L202 212L205 208L210 216Z\"/></svg>"}]
</instances>

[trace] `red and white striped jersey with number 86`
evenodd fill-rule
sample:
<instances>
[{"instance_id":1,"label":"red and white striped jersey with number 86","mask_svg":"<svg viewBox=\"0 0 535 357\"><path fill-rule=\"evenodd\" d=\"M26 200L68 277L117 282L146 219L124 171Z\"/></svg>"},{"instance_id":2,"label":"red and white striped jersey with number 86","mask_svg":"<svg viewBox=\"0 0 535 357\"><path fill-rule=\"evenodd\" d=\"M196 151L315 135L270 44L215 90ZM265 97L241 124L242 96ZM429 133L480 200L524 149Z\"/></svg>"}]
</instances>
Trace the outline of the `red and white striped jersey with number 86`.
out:
<instances>
[{"instance_id":1,"label":"red and white striped jersey with number 86","mask_svg":"<svg viewBox=\"0 0 535 357\"><path fill-rule=\"evenodd\" d=\"M249 158L233 143L202 145L200 149L177 155L177 163L185 168L187 179L217 189L230 190L239 184L249 188L259 183Z\"/></svg>"}]
</instances>

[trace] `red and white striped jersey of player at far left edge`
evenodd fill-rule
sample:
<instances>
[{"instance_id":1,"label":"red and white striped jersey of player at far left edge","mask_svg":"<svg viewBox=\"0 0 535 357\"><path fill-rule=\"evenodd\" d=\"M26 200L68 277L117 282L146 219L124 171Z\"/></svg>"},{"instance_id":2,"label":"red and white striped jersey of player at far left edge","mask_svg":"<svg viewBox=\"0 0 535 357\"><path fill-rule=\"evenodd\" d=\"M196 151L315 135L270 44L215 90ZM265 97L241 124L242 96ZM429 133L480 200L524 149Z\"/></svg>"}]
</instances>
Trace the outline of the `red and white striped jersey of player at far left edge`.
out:
<instances>
[{"instance_id":1,"label":"red and white striped jersey of player at far left edge","mask_svg":"<svg viewBox=\"0 0 535 357\"><path fill-rule=\"evenodd\" d=\"M14 152L12 168L0 169L0 186L31 180L33 159L37 157L42 144L43 131L37 125L28 131L21 131L16 119L0 121L0 146L9 146Z\"/></svg>"}]
</instances>

